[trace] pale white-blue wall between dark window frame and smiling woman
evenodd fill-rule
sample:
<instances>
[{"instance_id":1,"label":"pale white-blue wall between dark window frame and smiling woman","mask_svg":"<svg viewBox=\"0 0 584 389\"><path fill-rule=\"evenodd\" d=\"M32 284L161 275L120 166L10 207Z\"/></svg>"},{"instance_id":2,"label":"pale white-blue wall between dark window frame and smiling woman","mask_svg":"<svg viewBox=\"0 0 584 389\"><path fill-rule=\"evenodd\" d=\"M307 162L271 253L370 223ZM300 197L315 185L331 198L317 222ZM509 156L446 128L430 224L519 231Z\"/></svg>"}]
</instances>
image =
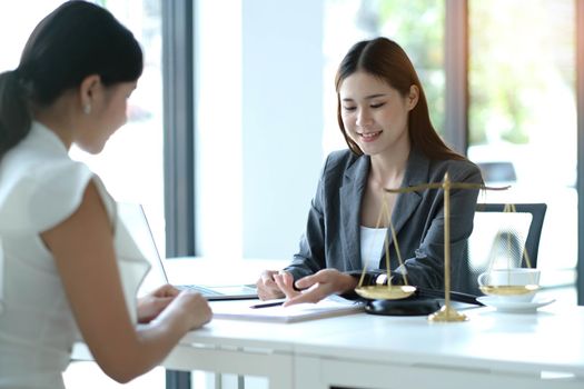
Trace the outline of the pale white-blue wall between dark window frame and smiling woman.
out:
<instances>
[{"instance_id":1,"label":"pale white-blue wall between dark window frame and smiling woman","mask_svg":"<svg viewBox=\"0 0 584 389\"><path fill-rule=\"evenodd\" d=\"M197 4L197 255L291 258L323 163L323 1Z\"/></svg>"}]
</instances>

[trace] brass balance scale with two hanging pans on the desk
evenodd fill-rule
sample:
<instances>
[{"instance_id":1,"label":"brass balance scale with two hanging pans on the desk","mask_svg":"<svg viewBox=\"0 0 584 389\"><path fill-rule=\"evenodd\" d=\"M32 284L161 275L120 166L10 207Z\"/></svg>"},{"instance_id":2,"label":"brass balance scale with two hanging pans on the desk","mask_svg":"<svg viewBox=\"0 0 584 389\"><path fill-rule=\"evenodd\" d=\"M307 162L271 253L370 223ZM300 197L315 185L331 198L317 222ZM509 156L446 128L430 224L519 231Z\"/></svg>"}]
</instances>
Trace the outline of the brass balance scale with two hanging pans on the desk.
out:
<instances>
[{"instance_id":1,"label":"brass balance scale with two hanging pans on the desk","mask_svg":"<svg viewBox=\"0 0 584 389\"><path fill-rule=\"evenodd\" d=\"M509 187L502 187L502 188L493 188L493 187L486 187L482 183L468 183L468 182L452 182L449 179L448 173L444 176L443 182L430 182L430 183L423 183L414 187L408 188L398 188L398 189L384 189L384 201L382 203L382 210L379 212L379 217L377 219L377 226L376 228L379 228L382 226L382 221L384 217L388 221L389 230L392 232L392 238L396 248L397 259L399 262L399 266L404 266L404 261L402 259L402 256L399 253L399 247L397 242L397 237L395 232L395 228L392 223L392 218L387 208L387 203L385 201L385 194L386 193L406 193L406 192L414 192L414 191L420 191L420 190L427 190L427 189L442 189L444 190L444 306L438 309L436 312L430 313L428 316L428 320L432 322L459 322L467 320L467 317L464 313L457 312L451 303L451 189L479 189L479 190L506 190ZM507 208L508 207L508 208ZM515 211L515 207L509 205L505 207L504 211ZM386 260L386 269L387 269L387 280L390 280L390 269L389 269L389 241L386 236L385 238L385 260ZM524 255L527 256L527 252L524 250ZM526 257L527 266L531 267L531 262L528 260L528 257ZM376 286L364 286L364 279L365 279L365 272L366 267L363 269L363 273L360 276L359 282L357 285L357 288L355 289L355 292L359 295L360 297L364 297L366 299L370 300L399 300L399 299L406 299L410 296L413 296L417 288L415 286L410 286L407 282L407 276L402 272L404 285L392 285L390 282L387 282L387 286L383 285L376 285ZM506 287L493 287L493 286L486 286L484 288L481 288L481 290L485 295L497 295L497 296L511 296L511 295L522 295L522 293L528 293L533 291L533 287L535 286L506 286Z\"/></svg>"}]
</instances>

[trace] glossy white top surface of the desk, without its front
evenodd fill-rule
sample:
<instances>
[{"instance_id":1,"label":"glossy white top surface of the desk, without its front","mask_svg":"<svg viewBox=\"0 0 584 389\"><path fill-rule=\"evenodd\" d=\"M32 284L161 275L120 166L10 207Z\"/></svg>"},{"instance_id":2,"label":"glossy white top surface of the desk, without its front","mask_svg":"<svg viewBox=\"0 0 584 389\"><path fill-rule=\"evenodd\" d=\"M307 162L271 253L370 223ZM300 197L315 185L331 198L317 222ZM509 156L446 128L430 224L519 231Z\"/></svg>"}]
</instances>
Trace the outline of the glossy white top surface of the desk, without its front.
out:
<instances>
[{"instance_id":1,"label":"glossy white top surface of the desk, without its front","mask_svg":"<svg viewBox=\"0 0 584 389\"><path fill-rule=\"evenodd\" d=\"M214 320L181 345L425 363L495 370L567 371L584 377L584 307L541 308L536 313L464 310L468 321L433 323L420 317L357 313L299 323ZM339 357L340 356L340 357Z\"/></svg>"}]
</instances>

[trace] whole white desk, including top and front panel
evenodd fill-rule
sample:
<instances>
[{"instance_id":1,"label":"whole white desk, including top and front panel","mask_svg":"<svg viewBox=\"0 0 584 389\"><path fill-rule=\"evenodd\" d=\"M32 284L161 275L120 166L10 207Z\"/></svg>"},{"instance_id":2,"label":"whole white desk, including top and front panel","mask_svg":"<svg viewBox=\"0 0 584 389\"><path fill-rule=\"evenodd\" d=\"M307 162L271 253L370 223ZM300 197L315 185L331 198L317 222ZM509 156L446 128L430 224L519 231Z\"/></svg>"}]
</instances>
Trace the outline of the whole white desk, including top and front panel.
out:
<instances>
[{"instance_id":1,"label":"whole white desk, including top and front panel","mask_svg":"<svg viewBox=\"0 0 584 389\"><path fill-rule=\"evenodd\" d=\"M164 366L265 376L277 389L584 388L584 307L465 313L462 323L366 313L293 325L214 320Z\"/></svg>"}]
</instances>

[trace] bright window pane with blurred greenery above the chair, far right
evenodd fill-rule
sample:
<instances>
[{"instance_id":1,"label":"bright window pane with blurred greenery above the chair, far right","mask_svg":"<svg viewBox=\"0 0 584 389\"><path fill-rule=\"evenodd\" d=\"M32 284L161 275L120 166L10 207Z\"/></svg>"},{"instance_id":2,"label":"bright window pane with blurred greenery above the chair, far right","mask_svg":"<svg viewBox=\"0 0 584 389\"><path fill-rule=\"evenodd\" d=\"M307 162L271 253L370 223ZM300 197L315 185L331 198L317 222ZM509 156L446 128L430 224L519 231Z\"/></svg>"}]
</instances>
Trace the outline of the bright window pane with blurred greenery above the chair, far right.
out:
<instances>
[{"instance_id":1,"label":"bright window pane with blurred greenery above the chair, far right","mask_svg":"<svg viewBox=\"0 0 584 389\"><path fill-rule=\"evenodd\" d=\"M547 203L544 285L573 282L577 255L574 12L572 0L469 1L468 156L487 183L512 184L481 200Z\"/></svg>"}]
</instances>

